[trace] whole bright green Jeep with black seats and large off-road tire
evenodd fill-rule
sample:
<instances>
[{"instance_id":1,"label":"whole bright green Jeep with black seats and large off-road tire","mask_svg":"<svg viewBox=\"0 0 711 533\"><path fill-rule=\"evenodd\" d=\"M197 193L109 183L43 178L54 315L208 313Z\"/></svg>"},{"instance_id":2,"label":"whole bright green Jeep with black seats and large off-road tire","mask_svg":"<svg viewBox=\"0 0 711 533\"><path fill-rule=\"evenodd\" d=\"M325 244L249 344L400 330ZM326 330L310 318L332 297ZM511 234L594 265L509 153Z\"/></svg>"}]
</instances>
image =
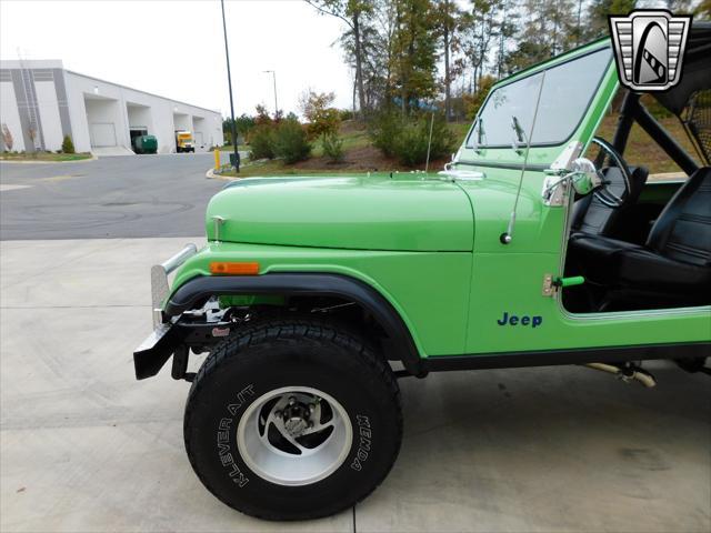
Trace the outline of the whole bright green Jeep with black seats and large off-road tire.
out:
<instances>
[{"instance_id":1,"label":"whole bright green Jeep with black seats and large off-road tire","mask_svg":"<svg viewBox=\"0 0 711 533\"><path fill-rule=\"evenodd\" d=\"M352 506L398 455L399 378L577 364L649 386L642 360L705 370L710 37L693 27L681 82L654 97L693 155L634 92L613 138L593 137L620 89L605 39L499 82L442 172L214 195L208 244L152 268L154 332L134 352L139 380L172 356L192 382L184 441L208 490L271 520ZM625 162L633 124L684 179Z\"/></svg>"}]
</instances>

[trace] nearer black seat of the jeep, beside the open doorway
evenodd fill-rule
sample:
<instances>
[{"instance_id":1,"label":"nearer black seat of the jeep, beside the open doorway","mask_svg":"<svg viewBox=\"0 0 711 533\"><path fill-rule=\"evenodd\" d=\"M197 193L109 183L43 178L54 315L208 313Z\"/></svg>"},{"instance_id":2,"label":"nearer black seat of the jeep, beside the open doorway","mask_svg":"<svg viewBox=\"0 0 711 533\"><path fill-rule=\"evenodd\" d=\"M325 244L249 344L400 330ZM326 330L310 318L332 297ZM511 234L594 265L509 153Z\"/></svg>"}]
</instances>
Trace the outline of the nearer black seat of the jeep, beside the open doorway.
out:
<instances>
[{"instance_id":1,"label":"nearer black seat of the jeep, beside the open doorway","mask_svg":"<svg viewBox=\"0 0 711 533\"><path fill-rule=\"evenodd\" d=\"M587 279L609 288L603 308L711 303L711 168L677 191L643 247L579 234L570 252Z\"/></svg>"}]
</instances>

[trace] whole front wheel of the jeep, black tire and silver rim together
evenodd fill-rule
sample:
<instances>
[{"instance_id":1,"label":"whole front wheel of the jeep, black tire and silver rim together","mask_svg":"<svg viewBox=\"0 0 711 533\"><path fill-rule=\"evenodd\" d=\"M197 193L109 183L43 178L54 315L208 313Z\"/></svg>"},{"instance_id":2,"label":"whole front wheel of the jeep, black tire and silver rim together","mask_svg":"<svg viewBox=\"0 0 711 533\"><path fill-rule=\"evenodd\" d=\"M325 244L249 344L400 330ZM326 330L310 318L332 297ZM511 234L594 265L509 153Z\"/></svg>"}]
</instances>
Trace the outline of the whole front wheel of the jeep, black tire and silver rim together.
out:
<instances>
[{"instance_id":1,"label":"whole front wheel of the jeep, black tire and silver rim together","mask_svg":"<svg viewBox=\"0 0 711 533\"><path fill-rule=\"evenodd\" d=\"M367 342L269 321L220 345L184 419L190 462L218 499L269 520L334 514L370 494L402 439L398 384Z\"/></svg>"}]
</instances>

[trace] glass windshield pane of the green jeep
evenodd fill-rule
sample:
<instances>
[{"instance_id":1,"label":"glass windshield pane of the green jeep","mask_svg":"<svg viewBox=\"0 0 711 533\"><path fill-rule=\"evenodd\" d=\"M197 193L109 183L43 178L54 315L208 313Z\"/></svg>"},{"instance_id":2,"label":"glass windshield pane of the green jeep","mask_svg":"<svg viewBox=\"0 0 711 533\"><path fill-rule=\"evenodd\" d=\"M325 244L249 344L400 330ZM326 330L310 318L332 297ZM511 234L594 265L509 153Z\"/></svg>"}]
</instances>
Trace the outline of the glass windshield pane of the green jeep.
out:
<instances>
[{"instance_id":1,"label":"glass windshield pane of the green jeep","mask_svg":"<svg viewBox=\"0 0 711 533\"><path fill-rule=\"evenodd\" d=\"M494 89L477 117L467 148L510 148L515 139L512 117L528 139L541 82L531 145L564 143L582 120L611 58L604 48Z\"/></svg>"}]
</instances>

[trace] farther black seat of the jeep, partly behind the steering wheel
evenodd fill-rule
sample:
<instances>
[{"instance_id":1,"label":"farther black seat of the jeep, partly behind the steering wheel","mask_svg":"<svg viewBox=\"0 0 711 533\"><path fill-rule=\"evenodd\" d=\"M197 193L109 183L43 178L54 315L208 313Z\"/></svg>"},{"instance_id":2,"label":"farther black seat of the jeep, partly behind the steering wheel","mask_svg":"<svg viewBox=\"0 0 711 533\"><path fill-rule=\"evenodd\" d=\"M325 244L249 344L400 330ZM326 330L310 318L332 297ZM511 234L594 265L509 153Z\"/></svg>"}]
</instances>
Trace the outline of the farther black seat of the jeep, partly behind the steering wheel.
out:
<instances>
[{"instance_id":1,"label":"farther black seat of the jeep, partly behind the steering wheel","mask_svg":"<svg viewBox=\"0 0 711 533\"><path fill-rule=\"evenodd\" d=\"M622 171L618 167L608 167L602 172L604 179L610 182L608 190L621 197L625 190ZM648 175L649 171L644 167L630 168L630 191L624 203L618 209L602 203L595 194L588 194L578 200L573 208L573 234L580 232L588 235L613 235L620 217L640 198Z\"/></svg>"}]
</instances>

